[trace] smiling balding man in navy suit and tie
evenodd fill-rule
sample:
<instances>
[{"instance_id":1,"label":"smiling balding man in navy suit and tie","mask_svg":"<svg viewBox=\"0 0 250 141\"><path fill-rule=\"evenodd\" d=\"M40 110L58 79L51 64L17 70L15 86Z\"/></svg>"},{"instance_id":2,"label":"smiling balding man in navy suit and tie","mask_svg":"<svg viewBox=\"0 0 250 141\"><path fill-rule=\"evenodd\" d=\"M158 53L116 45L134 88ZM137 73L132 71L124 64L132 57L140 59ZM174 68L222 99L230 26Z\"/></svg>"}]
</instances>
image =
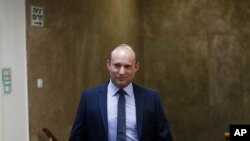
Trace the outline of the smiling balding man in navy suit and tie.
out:
<instances>
[{"instance_id":1,"label":"smiling balding man in navy suit and tie","mask_svg":"<svg viewBox=\"0 0 250 141\"><path fill-rule=\"evenodd\" d=\"M159 95L134 84L134 50L121 44L107 60L110 81L82 93L70 141L172 141Z\"/></svg>"}]
</instances>

